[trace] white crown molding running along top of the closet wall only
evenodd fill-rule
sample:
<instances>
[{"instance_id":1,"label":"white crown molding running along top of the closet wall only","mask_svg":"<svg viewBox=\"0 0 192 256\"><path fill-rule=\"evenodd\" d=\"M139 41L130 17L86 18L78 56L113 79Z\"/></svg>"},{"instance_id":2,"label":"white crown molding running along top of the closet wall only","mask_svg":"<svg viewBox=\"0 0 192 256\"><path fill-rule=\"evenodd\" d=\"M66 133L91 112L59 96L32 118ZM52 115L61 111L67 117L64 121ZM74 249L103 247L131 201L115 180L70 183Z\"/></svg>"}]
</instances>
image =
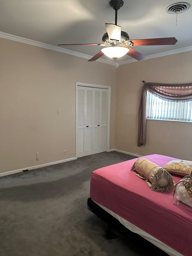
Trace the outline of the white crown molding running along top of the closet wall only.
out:
<instances>
[{"instance_id":1,"label":"white crown molding running along top of the closet wall only","mask_svg":"<svg viewBox=\"0 0 192 256\"><path fill-rule=\"evenodd\" d=\"M31 45L34 45L34 46L38 46L38 47L42 47L42 48L45 48L45 49L57 51L57 52L60 52L60 53L70 54L70 55L85 58L85 59L91 59L93 57L91 55L87 55L87 54L84 54L84 53L78 53L78 52L67 50L67 49L64 49L64 48L61 48L61 47L58 47L58 46L54 46L54 45L51 45L51 44L45 44L45 43L38 42L38 41L35 41L35 40L32 40L32 39L7 34L7 33L4 33L4 32L1 32L1 31L0 31L0 37L5 38L5 39L10 39L10 40L13 40L13 41L17 41L17 42L20 42L20 43L24 43L24 44L31 44ZM109 60L105 60L105 59L101 59L101 58L97 59L96 61L113 65L116 68L119 67L117 62L113 62L113 61L109 61Z\"/></svg>"}]
</instances>

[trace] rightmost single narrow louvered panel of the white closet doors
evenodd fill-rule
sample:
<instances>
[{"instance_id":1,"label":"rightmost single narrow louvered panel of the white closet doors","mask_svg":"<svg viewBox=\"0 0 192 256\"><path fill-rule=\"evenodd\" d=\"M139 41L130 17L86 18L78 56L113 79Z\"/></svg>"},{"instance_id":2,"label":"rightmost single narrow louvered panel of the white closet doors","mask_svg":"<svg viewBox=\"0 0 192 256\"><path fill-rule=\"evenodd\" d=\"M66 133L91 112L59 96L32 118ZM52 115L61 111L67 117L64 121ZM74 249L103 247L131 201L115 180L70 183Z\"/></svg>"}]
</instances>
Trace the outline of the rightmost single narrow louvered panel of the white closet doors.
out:
<instances>
[{"instance_id":1,"label":"rightmost single narrow louvered panel of the white closet doors","mask_svg":"<svg viewBox=\"0 0 192 256\"><path fill-rule=\"evenodd\" d=\"M101 90L100 152L107 151L107 92Z\"/></svg>"}]
</instances>

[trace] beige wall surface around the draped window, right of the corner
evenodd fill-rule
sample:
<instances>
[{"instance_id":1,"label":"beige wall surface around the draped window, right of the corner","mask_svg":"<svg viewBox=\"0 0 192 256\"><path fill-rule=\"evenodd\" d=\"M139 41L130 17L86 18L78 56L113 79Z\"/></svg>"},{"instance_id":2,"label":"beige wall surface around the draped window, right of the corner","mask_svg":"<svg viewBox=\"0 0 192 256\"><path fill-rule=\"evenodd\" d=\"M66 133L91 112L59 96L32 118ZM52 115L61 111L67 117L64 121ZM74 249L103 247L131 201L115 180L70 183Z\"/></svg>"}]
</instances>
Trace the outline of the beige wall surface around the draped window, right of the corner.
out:
<instances>
[{"instance_id":1,"label":"beige wall surface around the draped window, right of the corner","mask_svg":"<svg viewBox=\"0 0 192 256\"><path fill-rule=\"evenodd\" d=\"M120 65L117 69L115 148L138 155L162 154L192 160L192 123L147 120L147 142L137 146L142 81L192 81L192 51Z\"/></svg>"}]
</instances>

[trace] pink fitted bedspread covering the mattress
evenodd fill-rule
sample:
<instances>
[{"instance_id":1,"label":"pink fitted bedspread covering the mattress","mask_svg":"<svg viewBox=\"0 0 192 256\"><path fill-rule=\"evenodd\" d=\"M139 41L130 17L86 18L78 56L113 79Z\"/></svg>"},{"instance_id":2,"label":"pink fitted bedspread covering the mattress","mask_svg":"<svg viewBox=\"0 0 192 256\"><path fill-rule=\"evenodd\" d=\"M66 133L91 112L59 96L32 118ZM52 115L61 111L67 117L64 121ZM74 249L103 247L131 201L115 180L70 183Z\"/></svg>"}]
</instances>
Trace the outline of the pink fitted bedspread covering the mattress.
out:
<instances>
[{"instance_id":1,"label":"pink fitted bedspread covering the mattress","mask_svg":"<svg viewBox=\"0 0 192 256\"><path fill-rule=\"evenodd\" d=\"M176 158L147 155L163 166ZM173 205L173 189L152 191L130 169L138 158L92 172L90 197L185 256L192 255L192 212ZM182 177L173 176L175 182Z\"/></svg>"}]
</instances>

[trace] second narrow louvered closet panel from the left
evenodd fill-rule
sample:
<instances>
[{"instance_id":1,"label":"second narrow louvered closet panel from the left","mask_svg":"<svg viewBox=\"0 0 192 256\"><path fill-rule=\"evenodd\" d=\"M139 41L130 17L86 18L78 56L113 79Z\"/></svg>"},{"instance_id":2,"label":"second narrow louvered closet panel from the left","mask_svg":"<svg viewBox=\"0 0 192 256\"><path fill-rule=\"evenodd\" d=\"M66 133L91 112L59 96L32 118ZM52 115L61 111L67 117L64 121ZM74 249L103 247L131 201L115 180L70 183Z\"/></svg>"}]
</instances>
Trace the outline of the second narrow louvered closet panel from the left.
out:
<instances>
[{"instance_id":1,"label":"second narrow louvered closet panel from the left","mask_svg":"<svg viewBox=\"0 0 192 256\"><path fill-rule=\"evenodd\" d=\"M85 155L93 154L93 88L85 93Z\"/></svg>"}]
</instances>

